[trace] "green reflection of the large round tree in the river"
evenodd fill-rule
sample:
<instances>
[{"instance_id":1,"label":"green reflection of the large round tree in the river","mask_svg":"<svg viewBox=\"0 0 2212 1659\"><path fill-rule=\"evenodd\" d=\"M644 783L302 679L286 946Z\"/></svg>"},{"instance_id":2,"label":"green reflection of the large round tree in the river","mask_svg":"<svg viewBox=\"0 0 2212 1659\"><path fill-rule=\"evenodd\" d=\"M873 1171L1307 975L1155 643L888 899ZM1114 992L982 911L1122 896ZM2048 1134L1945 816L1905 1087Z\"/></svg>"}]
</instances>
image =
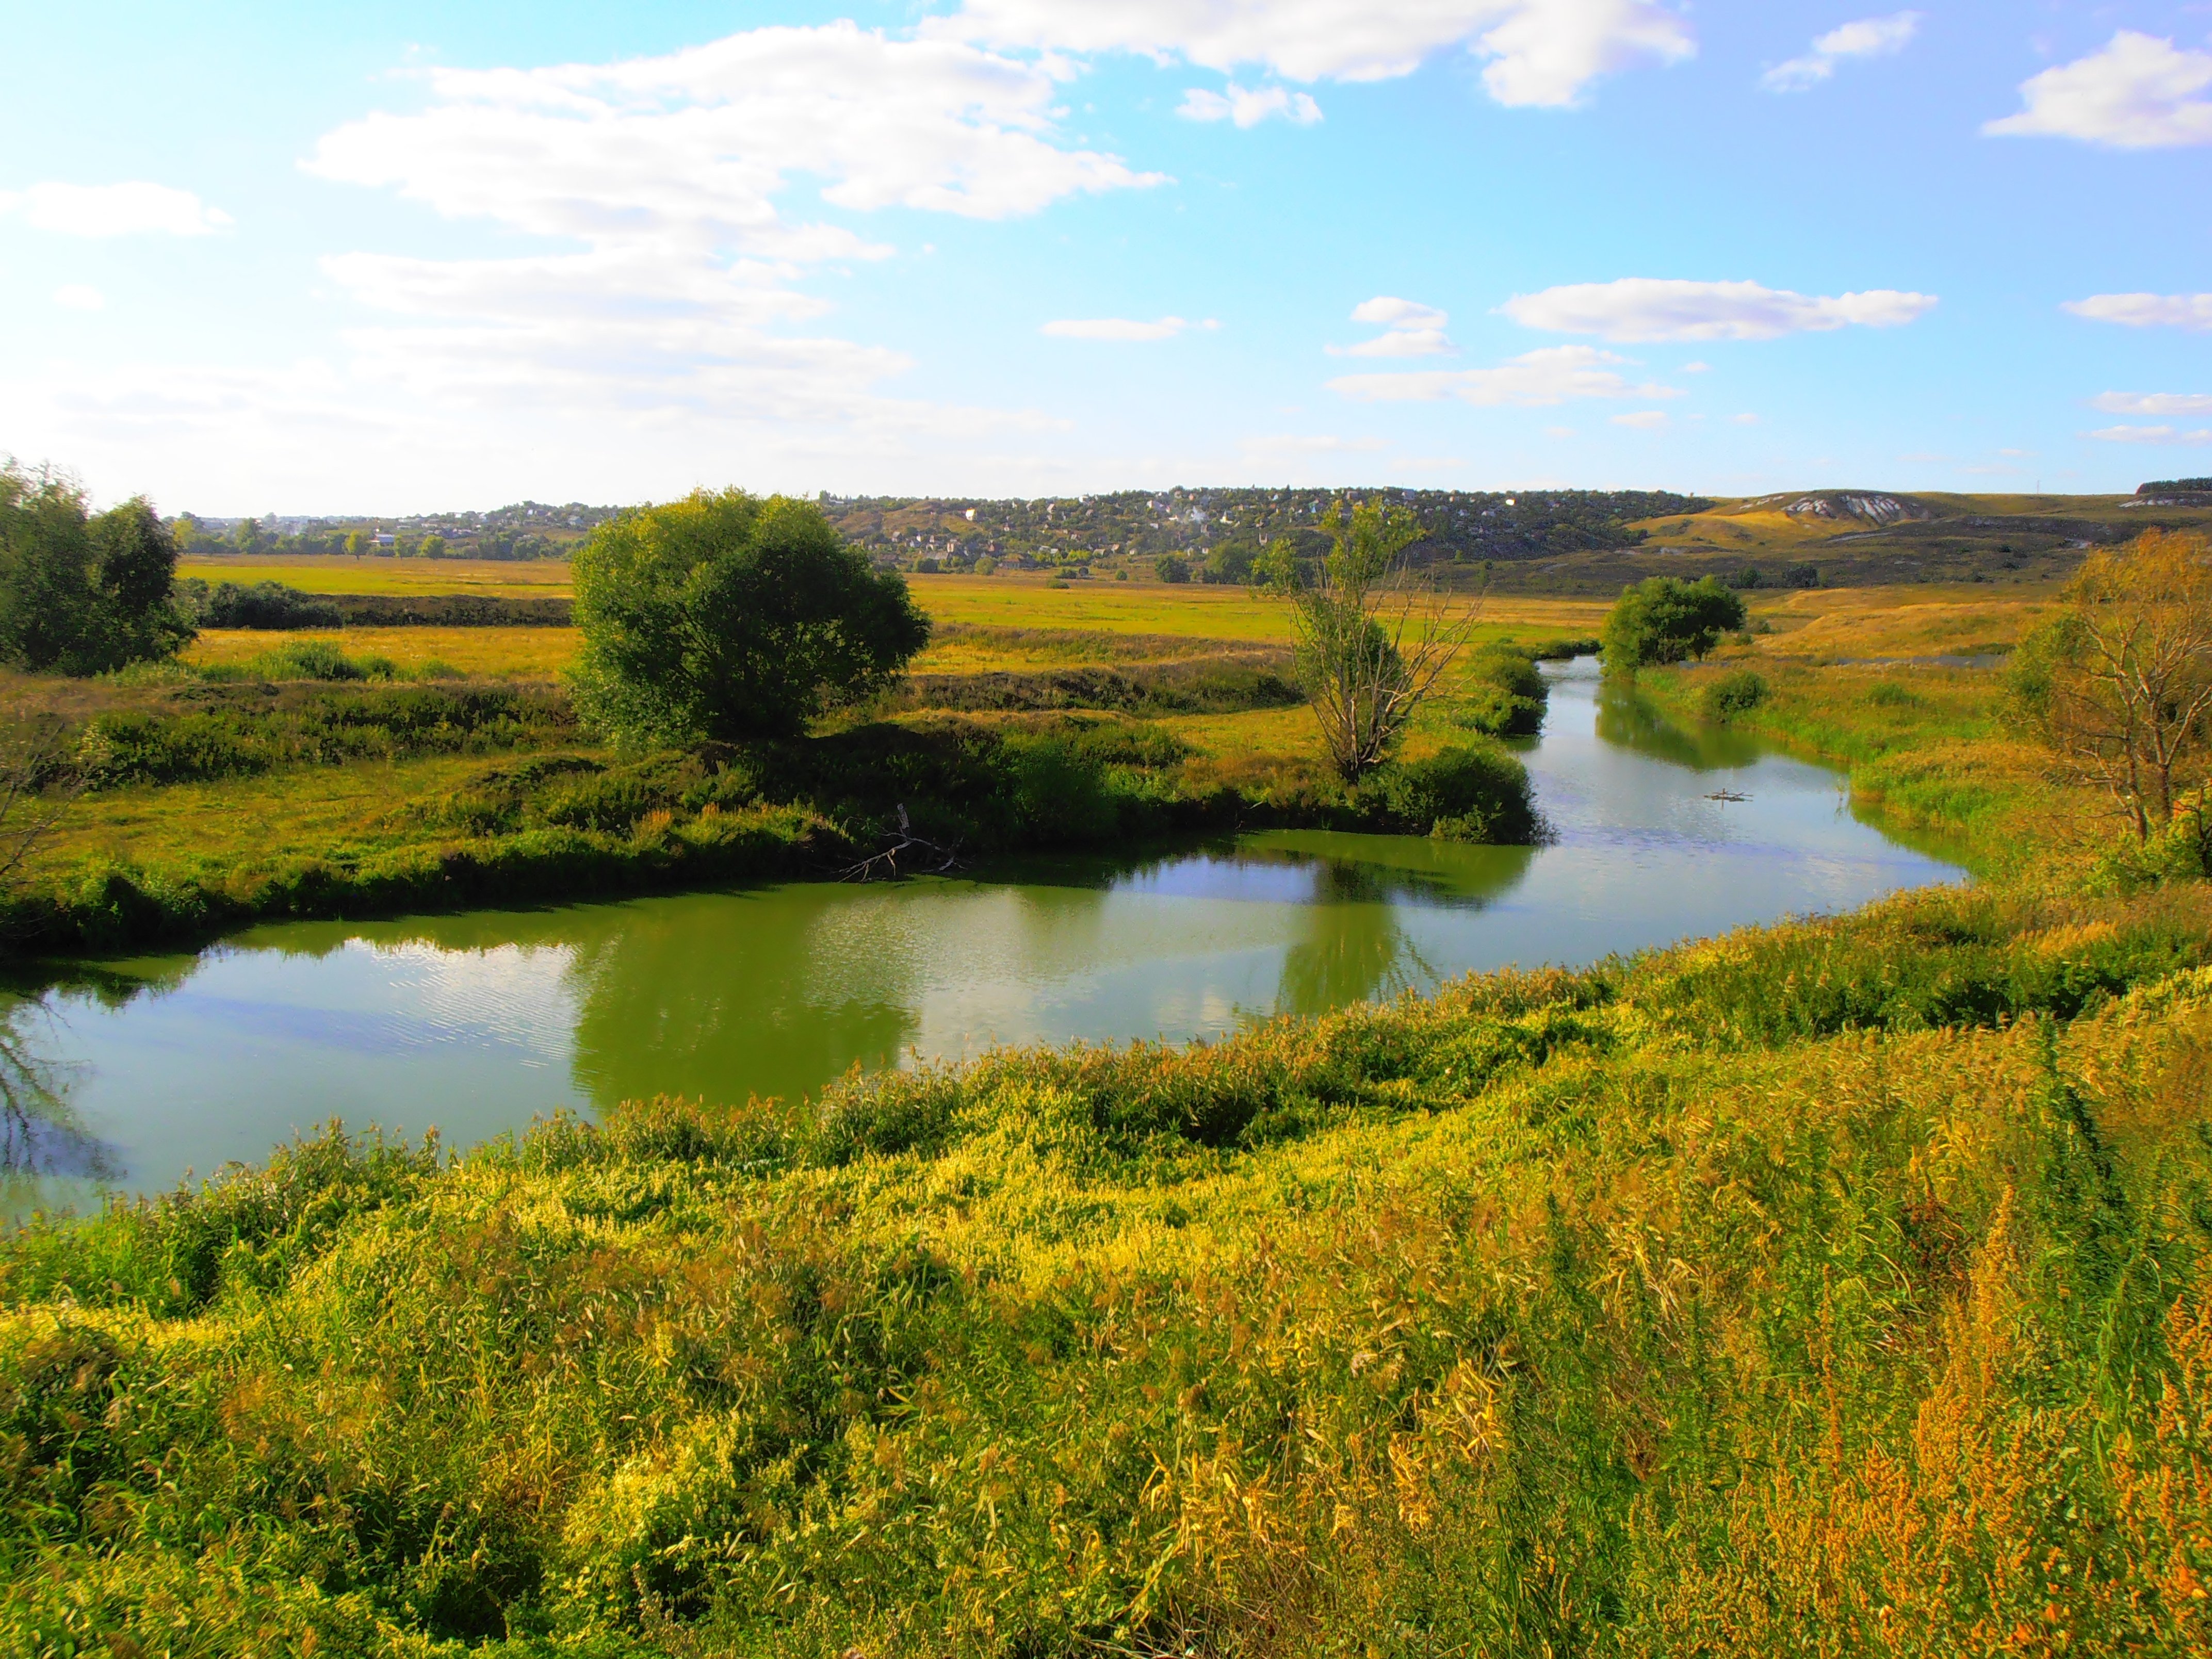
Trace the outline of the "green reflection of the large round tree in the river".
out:
<instances>
[{"instance_id":1,"label":"green reflection of the large round tree in the river","mask_svg":"<svg viewBox=\"0 0 2212 1659\"><path fill-rule=\"evenodd\" d=\"M807 995L816 925L841 920L836 905L765 891L615 911L595 936L571 936L577 1088L602 1108L650 1095L790 1099L856 1062L896 1060L920 1029L898 987L845 1002ZM878 953L876 967L898 980L905 964Z\"/></svg>"}]
</instances>

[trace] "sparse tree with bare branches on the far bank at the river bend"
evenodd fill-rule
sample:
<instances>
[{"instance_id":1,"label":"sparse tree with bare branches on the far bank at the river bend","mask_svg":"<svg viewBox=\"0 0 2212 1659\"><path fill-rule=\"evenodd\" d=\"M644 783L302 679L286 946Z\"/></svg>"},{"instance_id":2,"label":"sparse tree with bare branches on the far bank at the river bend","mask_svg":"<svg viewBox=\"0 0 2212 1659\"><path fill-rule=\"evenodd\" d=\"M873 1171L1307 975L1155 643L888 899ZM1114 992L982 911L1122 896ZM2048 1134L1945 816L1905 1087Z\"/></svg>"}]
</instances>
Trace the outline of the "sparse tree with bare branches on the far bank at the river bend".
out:
<instances>
[{"instance_id":1,"label":"sparse tree with bare branches on the far bank at the river bend","mask_svg":"<svg viewBox=\"0 0 2212 1659\"><path fill-rule=\"evenodd\" d=\"M1467 646L1482 613L1405 562L1420 526L1402 507L1336 502L1321 520L1329 553L1301 580L1287 542L1265 555L1270 586L1292 602L1298 681L1321 745L1345 783L1389 759L1413 710Z\"/></svg>"}]
</instances>

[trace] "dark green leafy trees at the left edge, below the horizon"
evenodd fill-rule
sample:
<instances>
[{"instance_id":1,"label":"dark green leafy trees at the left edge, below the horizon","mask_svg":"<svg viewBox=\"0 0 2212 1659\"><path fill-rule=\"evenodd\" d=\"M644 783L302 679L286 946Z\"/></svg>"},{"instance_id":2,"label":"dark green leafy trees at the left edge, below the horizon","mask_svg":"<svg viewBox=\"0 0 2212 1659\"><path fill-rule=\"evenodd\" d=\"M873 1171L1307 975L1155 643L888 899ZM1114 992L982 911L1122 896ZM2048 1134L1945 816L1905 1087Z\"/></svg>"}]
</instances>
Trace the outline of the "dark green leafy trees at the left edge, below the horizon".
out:
<instances>
[{"instance_id":1,"label":"dark green leafy trees at the left edge, below the horizon","mask_svg":"<svg viewBox=\"0 0 2212 1659\"><path fill-rule=\"evenodd\" d=\"M95 675L173 657L192 637L175 573L144 498L95 515L69 480L0 467L0 661Z\"/></svg>"}]
</instances>

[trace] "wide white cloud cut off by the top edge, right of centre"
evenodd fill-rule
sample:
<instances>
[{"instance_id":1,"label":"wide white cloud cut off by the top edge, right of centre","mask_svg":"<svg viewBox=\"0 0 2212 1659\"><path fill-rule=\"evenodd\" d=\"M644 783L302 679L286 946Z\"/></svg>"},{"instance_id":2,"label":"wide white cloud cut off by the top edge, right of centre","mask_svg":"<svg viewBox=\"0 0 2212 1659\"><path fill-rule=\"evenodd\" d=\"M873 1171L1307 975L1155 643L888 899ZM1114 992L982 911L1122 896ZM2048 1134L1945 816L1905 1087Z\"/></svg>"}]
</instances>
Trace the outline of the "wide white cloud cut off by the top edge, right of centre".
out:
<instances>
[{"instance_id":1,"label":"wide white cloud cut off by the top edge, right of centre","mask_svg":"<svg viewBox=\"0 0 2212 1659\"><path fill-rule=\"evenodd\" d=\"M1464 46L1486 60L1500 104L1562 106L1593 80L1639 62L1697 53L1690 24L1657 0L967 0L925 38L1066 53L1133 51L1230 73L1285 80L1396 80Z\"/></svg>"}]
</instances>

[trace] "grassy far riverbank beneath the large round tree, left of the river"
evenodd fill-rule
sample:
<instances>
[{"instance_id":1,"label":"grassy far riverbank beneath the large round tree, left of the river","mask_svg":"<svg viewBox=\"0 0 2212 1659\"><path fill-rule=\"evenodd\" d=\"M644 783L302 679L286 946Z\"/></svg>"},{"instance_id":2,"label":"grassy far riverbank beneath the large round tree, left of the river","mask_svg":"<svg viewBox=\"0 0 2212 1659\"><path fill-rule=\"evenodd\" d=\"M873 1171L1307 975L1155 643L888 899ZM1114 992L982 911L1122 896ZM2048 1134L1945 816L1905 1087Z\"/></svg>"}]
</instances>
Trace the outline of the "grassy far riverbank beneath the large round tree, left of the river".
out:
<instances>
[{"instance_id":1,"label":"grassy far riverbank beneath the large round tree, left of the river","mask_svg":"<svg viewBox=\"0 0 2212 1659\"><path fill-rule=\"evenodd\" d=\"M533 630L425 633L529 648ZM1345 790L1274 644L951 626L933 655L807 741L699 754L597 745L551 684L405 681L283 635L197 675L22 681L18 717L60 732L53 763L82 790L0 905L0 938L100 953L276 918L889 876L1256 827L1540 834L1526 774L1491 737L1535 703L1475 661L1402 763ZM305 670L341 677L268 677Z\"/></svg>"}]
</instances>

